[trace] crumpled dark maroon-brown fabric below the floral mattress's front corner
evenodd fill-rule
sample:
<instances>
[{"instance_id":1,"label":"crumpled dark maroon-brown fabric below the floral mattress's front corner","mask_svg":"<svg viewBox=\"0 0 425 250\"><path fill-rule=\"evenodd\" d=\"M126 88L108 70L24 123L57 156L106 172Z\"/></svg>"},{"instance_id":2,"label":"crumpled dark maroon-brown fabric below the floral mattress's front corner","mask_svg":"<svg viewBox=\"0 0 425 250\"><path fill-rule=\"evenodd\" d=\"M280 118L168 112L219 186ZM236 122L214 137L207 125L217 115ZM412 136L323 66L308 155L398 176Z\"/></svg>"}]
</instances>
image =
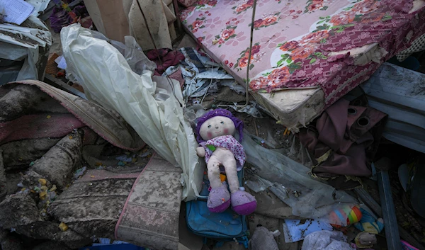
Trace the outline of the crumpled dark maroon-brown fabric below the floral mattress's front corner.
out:
<instances>
[{"instance_id":1,"label":"crumpled dark maroon-brown fabric below the floral mattress's front corner","mask_svg":"<svg viewBox=\"0 0 425 250\"><path fill-rule=\"evenodd\" d=\"M352 106L344 99L327 108L315 125L299 133L300 141L317 164L312 173L331 179L331 185L336 188L358 186L359 183L346 181L344 176L372 174L370 163L378 149L386 117L374 108Z\"/></svg>"}]
</instances>

